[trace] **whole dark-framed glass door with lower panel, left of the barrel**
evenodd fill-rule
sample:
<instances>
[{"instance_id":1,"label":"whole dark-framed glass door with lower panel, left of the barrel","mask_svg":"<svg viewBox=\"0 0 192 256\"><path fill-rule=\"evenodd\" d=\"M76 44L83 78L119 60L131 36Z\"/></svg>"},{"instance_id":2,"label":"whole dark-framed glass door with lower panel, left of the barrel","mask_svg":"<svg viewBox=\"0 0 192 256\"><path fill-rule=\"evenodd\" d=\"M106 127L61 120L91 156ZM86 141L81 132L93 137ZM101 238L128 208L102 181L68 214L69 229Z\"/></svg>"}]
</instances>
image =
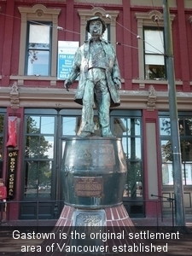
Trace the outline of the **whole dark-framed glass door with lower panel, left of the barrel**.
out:
<instances>
[{"instance_id":1,"label":"whole dark-framed glass door with lower panel, left of the barrel","mask_svg":"<svg viewBox=\"0 0 192 256\"><path fill-rule=\"evenodd\" d=\"M57 123L54 113L28 110L25 114L20 218L54 218Z\"/></svg>"}]
</instances>

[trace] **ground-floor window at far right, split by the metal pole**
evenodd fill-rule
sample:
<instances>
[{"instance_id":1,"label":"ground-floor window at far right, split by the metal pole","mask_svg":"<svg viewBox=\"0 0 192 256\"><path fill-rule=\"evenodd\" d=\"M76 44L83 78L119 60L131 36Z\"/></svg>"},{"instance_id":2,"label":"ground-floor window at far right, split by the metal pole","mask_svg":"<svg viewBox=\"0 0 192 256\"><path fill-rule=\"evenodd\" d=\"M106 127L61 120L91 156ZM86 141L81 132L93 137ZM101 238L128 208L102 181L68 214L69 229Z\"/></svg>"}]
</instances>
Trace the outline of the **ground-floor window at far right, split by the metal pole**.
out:
<instances>
[{"instance_id":1,"label":"ground-floor window at far right, split by the metal pole","mask_svg":"<svg viewBox=\"0 0 192 256\"><path fill-rule=\"evenodd\" d=\"M192 185L192 114L179 115L178 127L182 157L183 185ZM160 117L160 142L163 185L173 184L171 122L166 115Z\"/></svg>"}]
</instances>

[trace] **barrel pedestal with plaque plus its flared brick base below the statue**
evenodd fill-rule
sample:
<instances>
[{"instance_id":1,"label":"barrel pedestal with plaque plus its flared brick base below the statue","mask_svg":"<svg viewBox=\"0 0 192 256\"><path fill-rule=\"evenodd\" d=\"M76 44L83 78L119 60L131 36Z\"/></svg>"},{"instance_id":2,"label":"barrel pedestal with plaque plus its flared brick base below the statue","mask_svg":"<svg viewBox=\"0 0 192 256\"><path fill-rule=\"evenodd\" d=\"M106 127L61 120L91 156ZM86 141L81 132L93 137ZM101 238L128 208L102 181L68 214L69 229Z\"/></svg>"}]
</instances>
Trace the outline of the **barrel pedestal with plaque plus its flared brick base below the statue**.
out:
<instances>
[{"instance_id":1,"label":"barrel pedestal with plaque plus its flared brick base below the statue","mask_svg":"<svg viewBox=\"0 0 192 256\"><path fill-rule=\"evenodd\" d=\"M136 229L122 204L126 172L119 138L68 138L61 168L65 206L54 239L45 240L37 255L159 255L143 251L146 241L129 237Z\"/></svg>"}]
</instances>

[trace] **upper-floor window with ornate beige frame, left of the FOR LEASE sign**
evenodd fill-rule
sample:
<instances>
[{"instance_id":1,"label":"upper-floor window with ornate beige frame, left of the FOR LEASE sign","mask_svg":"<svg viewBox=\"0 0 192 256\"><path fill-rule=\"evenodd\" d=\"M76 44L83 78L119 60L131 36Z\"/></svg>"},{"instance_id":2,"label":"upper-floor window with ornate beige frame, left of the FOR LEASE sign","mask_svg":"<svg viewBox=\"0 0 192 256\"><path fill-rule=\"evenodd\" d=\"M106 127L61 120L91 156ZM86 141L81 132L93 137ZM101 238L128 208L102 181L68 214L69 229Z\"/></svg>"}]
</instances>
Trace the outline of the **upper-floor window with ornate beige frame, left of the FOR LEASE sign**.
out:
<instances>
[{"instance_id":1,"label":"upper-floor window with ornate beige frame, left of the FOR LEASE sign","mask_svg":"<svg viewBox=\"0 0 192 256\"><path fill-rule=\"evenodd\" d=\"M30 79L27 76L35 74L42 77L49 76L49 79L55 77L56 80L58 41L56 27L61 9L48 9L43 4L35 4L32 8L18 7L18 9L22 20L18 80L21 83L22 79ZM51 83L54 84L50 79Z\"/></svg>"}]
</instances>

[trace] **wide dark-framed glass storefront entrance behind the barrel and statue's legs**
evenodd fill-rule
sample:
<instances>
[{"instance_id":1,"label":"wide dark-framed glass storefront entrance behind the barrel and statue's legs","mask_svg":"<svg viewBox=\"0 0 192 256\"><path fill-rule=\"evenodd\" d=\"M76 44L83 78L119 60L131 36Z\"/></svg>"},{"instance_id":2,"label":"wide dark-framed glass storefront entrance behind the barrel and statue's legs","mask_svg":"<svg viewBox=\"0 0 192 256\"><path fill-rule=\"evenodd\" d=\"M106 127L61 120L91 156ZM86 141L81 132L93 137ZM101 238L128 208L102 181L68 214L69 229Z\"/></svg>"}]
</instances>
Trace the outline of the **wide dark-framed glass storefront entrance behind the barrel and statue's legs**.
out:
<instances>
[{"instance_id":1,"label":"wide dark-framed glass storefront entrance behind the barrel and statue's legs","mask_svg":"<svg viewBox=\"0 0 192 256\"><path fill-rule=\"evenodd\" d=\"M80 116L80 109L25 110L20 219L59 218L64 201L61 162L65 140L77 135ZM99 136L97 117L94 121ZM129 170L123 200L135 217L144 216L141 125L139 111L111 112L113 135L122 139Z\"/></svg>"}]
</instances>

